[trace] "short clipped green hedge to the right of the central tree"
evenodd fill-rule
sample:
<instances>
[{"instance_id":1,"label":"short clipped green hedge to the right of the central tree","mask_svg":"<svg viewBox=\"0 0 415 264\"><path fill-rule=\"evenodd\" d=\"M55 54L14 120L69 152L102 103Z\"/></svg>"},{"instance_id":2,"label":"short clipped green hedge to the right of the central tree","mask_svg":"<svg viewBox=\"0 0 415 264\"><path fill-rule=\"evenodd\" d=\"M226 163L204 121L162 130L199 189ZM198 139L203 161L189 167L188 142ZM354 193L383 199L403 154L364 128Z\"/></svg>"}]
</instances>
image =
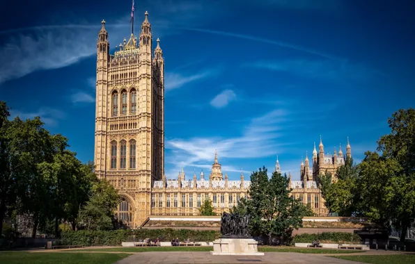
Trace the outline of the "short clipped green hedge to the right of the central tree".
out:
<instances>
[{"instance_id":1,"label":"short clipped green hedge to the right of the central tree","mask_svg":"<svg viewBox=\"0 0 415 264\"><path fill-rule=\"evenodd\" d=\"M292 243L311 243L317 240L336 244L361 244L359 235L346 232L302 233L295 235L292 238Z\"/></svg>"}]
</instances>

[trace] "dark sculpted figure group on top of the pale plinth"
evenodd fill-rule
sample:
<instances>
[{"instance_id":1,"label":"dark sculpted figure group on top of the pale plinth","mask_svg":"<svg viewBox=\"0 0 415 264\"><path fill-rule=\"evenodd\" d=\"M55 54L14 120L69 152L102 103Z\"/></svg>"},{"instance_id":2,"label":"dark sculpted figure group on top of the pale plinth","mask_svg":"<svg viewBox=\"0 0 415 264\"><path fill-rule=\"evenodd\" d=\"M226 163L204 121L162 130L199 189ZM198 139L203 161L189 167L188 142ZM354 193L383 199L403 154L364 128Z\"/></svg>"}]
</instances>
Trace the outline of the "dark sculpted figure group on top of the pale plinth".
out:
<instances>
[{"instance_id":1,"label":"dark sculpted figure group on top of the pale plinth","mask_svg":"<svg viewBox=\"0 0 415 264\"><path fill-rule=\"evenodd\" d=\"M221 217L222 238L251 238L249 215L224 213Z\"/></svg>"}]
</instances>

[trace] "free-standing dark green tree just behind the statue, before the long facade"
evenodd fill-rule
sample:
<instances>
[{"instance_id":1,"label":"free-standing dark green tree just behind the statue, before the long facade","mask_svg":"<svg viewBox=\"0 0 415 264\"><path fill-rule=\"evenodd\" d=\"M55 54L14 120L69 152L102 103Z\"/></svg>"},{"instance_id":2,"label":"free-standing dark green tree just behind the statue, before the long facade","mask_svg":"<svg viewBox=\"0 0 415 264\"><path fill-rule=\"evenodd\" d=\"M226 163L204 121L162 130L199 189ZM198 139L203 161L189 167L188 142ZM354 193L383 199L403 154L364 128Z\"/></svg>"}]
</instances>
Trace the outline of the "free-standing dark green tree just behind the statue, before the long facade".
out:
<instances>
[{"instance_id":1,"label":"free-standing dark green tree just behind the statue, before the long facade","mask_svg":"<svg viewBox=\"0 0 415 264\"><path fill-rule=\"evenodd\" d=\"M290 196L287 175L274 172L269 179L267 169L251 174L248 198L242 200L234 212L247 213L251 217L251 229L269 238L289 238L294 229L302 226L302 217L312 215L311 209Z\"/></svg>"}]
</instances>

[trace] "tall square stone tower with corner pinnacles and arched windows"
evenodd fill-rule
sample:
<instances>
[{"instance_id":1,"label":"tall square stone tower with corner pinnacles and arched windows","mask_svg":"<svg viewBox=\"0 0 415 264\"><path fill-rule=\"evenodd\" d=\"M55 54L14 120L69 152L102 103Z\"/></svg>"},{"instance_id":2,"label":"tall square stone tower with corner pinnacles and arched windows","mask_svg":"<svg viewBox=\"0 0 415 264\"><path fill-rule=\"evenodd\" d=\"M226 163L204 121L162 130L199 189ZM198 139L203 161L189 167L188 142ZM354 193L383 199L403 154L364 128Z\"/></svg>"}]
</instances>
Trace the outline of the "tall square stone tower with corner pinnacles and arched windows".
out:
<instances>
[{"instance_id":1,"label":"tall square stone tower with corner pinnacles and arched windows","mask_svg":"<svg viewBox=\"0 0 415 264\"><path fill-rule=\"evenodd\" d=\"M151 213L151 186L164 172L164 58L152 52L148 13L109 54L105 22L97 40L95 173L118 189L116 217L137 228Z\"/></svg>"}]
</instances>

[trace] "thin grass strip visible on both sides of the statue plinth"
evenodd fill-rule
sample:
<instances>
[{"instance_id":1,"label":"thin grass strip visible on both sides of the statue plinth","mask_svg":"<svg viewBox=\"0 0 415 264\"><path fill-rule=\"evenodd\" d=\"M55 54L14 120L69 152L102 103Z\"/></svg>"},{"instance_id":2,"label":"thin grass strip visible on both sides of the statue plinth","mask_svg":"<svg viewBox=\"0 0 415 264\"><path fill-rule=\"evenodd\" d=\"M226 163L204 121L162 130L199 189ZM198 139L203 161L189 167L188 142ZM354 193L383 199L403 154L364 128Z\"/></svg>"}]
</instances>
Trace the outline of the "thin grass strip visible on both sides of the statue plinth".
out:
<instances>
[{"instance_id":1,"label":"thin grass strip visible on both sides of the statue plinth","mask_svg":"<svg viewBox=\"0 0 415 264\"><path fill-rule=\"evenodd\" d=\"M106 247L73 249L73 251L97 251L97 252L148 252L148 251L212 251L213 247ZM305 254L336 254L336 253L359 253L359 250L340 249L299 249L296 247L258 247L261 252L295 252Z\"/></svg>"}]
</instances>

